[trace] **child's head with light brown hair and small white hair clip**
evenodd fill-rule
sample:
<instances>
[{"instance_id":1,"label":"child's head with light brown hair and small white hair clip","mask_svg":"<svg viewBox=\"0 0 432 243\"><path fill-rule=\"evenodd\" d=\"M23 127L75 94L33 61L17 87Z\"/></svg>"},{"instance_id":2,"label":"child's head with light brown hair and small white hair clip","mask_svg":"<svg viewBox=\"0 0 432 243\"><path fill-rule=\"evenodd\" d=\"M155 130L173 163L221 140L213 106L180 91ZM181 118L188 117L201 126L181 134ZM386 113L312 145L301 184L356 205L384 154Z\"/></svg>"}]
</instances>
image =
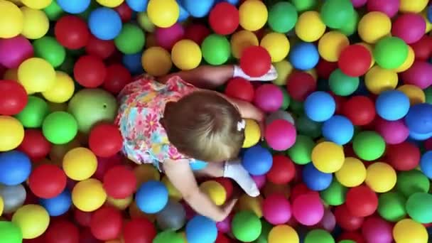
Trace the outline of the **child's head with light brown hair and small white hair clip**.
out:
<instances>
[{"instance_id":1,"label":"child's head with light brown hair and small white hair clip","mask_svg":"<svg viewBox=\"0 0 432 243\"><path fill-rule=\"evenodd\" d=\"M237 158L244 141L237 107L215 92L200 91L166 105L168 139L178 151L202 161Z\"/></svg>"}]
</instances>

